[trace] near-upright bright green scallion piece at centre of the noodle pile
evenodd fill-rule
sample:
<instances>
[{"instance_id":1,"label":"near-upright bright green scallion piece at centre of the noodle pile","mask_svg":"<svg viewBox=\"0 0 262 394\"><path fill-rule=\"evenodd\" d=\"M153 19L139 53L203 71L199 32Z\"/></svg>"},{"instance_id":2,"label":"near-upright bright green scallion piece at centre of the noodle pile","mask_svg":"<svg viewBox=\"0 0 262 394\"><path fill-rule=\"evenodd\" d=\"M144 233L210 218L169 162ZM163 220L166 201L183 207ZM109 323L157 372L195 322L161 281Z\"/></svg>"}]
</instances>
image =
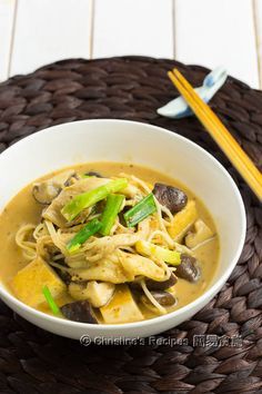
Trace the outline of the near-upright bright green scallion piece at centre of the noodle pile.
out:
<instances>
[{"instance_id":1,"label":"near-upright bright green scallion piece at centre of the noodle pile","mask_svg":"<svg viewBox=\"0 0 262 394\"><path fill-rule=\"evenodd\" d=\"M122 195L109 195L107 198L107 204L104 211L102 213L101 224L102 227L100 233L102 235L109 235L111 228L113 227L114 220L118 216L118 213L121 209L123 204L124 196Z\"/></svg>"}]
</instances>

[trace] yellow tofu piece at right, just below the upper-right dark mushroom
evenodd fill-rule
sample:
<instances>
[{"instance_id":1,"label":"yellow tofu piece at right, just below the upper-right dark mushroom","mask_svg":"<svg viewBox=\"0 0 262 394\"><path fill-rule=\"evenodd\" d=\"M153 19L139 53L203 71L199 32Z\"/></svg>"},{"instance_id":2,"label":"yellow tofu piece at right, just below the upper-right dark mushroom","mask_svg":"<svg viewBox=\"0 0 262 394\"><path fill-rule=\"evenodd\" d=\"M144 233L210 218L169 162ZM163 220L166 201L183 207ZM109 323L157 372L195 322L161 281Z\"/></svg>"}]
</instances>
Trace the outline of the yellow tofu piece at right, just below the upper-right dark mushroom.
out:
<instances>
[{"instance_id":1,"label":"yellow tofu piece at right, just below the upper-right dark mushroom","mask_svg":"<svg viewBox=\"0 0 262 394\"><path fill-rule=\"evenodd\" d=\"M198 210L195 207L195 201L190 200L182 210L174 215L174 218L169 227L170 236L174 240L180 242L196 219Z\"/></svg>"}]
</instances>

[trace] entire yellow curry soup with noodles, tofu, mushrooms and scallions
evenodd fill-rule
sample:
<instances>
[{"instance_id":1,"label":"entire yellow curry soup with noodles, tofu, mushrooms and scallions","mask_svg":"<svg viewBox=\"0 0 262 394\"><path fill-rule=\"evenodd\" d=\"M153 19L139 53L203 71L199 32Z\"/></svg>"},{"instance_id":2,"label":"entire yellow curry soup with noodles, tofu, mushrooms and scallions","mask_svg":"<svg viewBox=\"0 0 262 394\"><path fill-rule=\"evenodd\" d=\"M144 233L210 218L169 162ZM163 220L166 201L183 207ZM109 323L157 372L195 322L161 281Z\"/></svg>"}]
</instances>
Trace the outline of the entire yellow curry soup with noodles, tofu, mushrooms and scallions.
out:
<instances>
[{"instance_id":1,"label":"entire yellow curry soup with noodles, tofu, mushrooms and scallions","mask_svg":"<svg viewBox=\"0 0 262 394\"><path fill-rule=\"evenodd\" d=\"M122 324L211 285L219 237L191 190L151 168L91 162L24 187L0 215L2 283L61 318Z\"/></svg>"}]
</instances>

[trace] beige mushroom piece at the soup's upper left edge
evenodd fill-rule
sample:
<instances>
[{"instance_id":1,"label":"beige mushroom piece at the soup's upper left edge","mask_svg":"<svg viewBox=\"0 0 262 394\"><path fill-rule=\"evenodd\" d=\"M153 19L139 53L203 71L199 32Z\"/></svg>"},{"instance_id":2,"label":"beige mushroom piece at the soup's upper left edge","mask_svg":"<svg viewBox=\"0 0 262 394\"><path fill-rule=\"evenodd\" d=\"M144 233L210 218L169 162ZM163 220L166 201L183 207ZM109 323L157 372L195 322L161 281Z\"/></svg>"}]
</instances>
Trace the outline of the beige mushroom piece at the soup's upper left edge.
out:
<instances>
[{"instance_id":1,"label":"beige mushroom piece at the soup's upper left edge","mask_svg":"<svg viewBox=\"0 0 262 394\"><path fill-rule=\"evenodd\" d=\"M51 204L73 176L74 171L70 169L58 174L50 179L33 184L32 195L40 204Z\"/></svg>"}]
</instances>

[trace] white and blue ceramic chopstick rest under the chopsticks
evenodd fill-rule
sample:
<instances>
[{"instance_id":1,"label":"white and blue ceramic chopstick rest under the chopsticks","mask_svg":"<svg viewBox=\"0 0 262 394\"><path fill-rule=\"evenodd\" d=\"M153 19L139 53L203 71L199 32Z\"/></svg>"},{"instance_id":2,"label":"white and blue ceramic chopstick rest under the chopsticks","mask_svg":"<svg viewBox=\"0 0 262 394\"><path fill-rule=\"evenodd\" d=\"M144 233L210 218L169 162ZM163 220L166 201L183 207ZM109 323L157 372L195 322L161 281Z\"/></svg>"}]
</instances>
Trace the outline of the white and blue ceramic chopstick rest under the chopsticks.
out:
<instances>
[{"instance_id":1,"label":"white and blue ceramic chopstick rest under the chopsticks","mask_svg":"<svg viewBox=\"0 0 262 394\"><path fill-rule=\"evenodd\" d=\"M198 92L204 102L209 102L216 91L224 85L226 78L226 70L223 67L218 67L204 78L203 85L195 88L194 91ZM194 115L182 96L169 101L165 106L159 108L157 112L172 119L180 119Z\"/></svg>"}]
</instances>

